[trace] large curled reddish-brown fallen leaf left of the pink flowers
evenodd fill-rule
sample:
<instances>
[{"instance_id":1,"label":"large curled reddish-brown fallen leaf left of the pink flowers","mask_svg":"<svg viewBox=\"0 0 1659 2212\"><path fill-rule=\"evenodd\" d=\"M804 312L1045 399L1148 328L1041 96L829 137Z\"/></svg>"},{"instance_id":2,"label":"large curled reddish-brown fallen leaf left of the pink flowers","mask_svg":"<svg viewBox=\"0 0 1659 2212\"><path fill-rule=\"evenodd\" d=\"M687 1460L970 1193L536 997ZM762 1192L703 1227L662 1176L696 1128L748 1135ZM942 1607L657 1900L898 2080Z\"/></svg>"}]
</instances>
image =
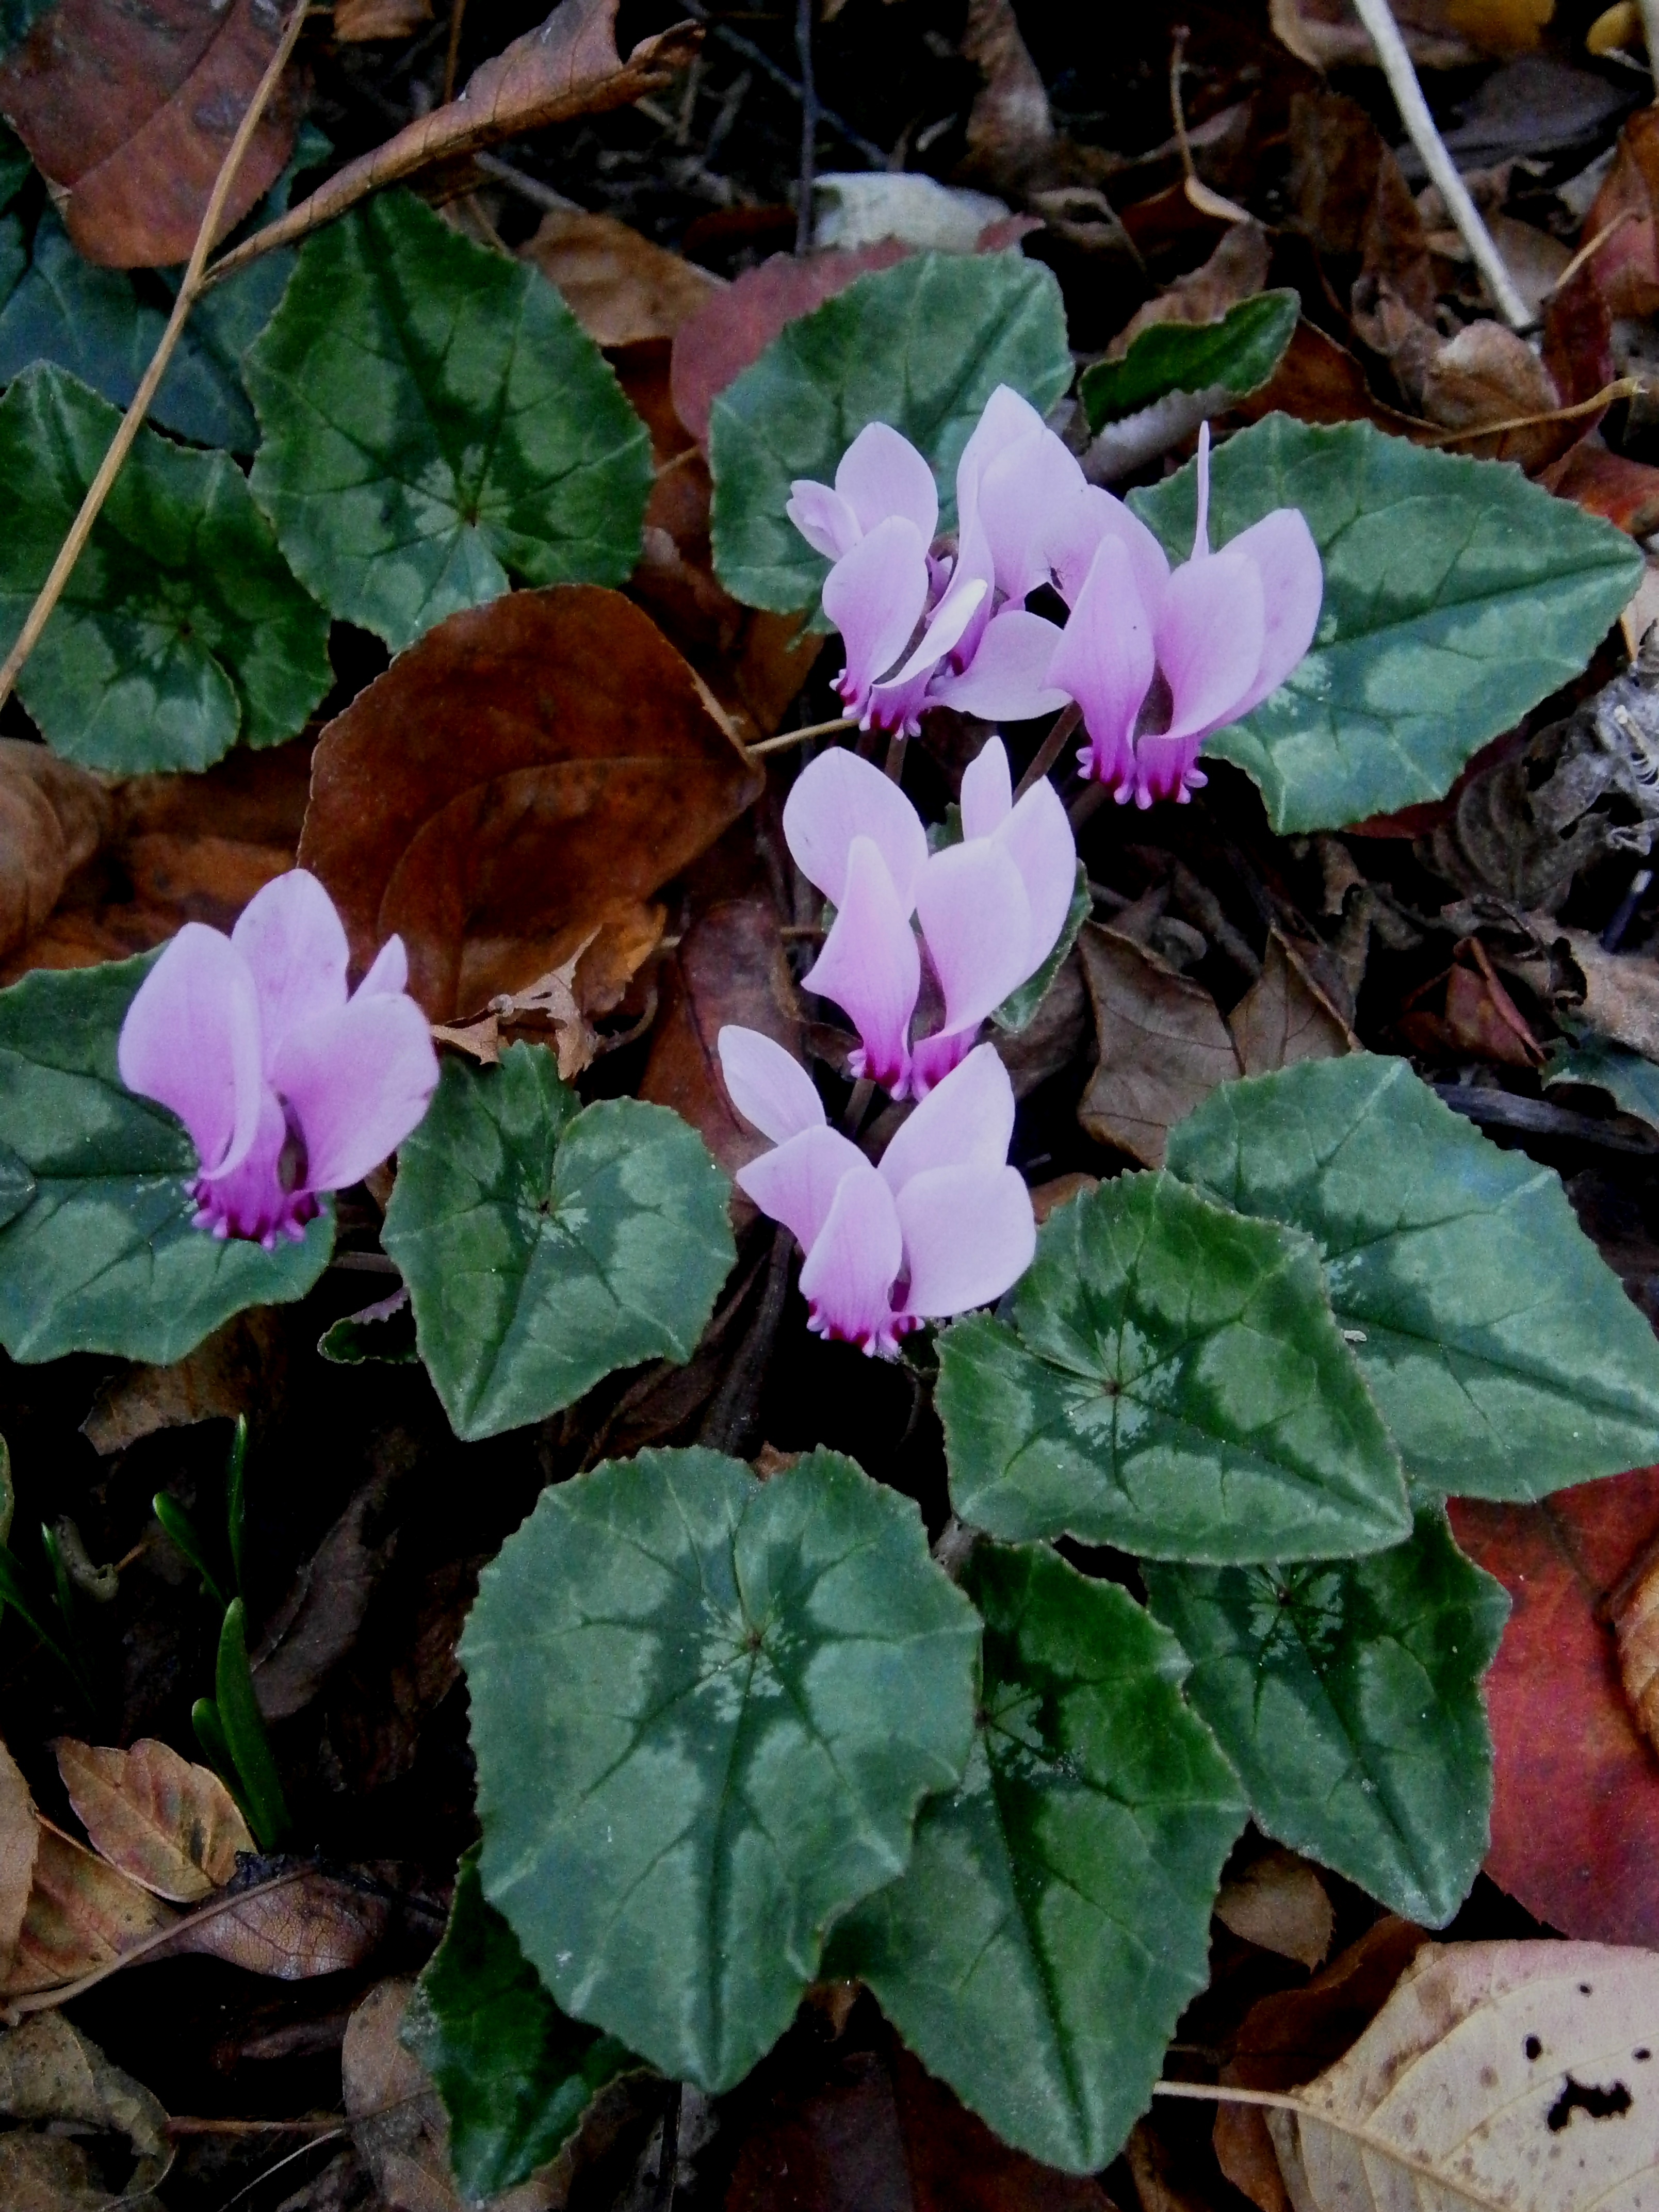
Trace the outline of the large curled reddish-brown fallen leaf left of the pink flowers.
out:
<instances>
[{"instance_id":1,"label":"large curled reddish-brown fallen leaf left of the pink flowers","mask_svg":"<svg viewBox=\"0 0 1659 2212\"><path fill-rule=\"evenodd\" d=\"M398 931L431 1020L655 936L639 902L761 792L692 668L615 591L451 615L323 732L301 865L365 967ZM626 964L626 958L622 964Z\"/></svg>"}]
</instances>

